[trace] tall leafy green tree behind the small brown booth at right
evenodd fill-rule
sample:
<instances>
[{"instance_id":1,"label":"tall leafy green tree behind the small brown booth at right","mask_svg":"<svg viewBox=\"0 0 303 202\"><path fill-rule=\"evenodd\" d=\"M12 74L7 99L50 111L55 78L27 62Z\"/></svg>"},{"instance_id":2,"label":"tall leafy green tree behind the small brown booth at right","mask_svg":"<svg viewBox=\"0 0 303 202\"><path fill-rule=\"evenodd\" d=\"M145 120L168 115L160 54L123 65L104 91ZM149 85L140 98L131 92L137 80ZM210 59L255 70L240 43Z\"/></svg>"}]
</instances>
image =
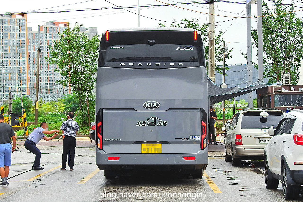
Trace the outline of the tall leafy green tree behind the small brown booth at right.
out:
<instances>
[{"instance_id":1,"label":"tall leafy green tree behind the small brown booth at right","mask_svg":"<svg viewBox=\"0 0 303 202\"><path fill-rule=\"evenodd\" d=\"M292 84L298 83L303 49L302 19L296 17L293 6L274 2L272 9L263 2L263 62L264 76L277 82L283 73L290 73ZM281 15L272 15L285 13ZM269 15L269 16L266 16ZM257 30L252 30L253 47L258 47Z\"/></svg>"}]
</instances>

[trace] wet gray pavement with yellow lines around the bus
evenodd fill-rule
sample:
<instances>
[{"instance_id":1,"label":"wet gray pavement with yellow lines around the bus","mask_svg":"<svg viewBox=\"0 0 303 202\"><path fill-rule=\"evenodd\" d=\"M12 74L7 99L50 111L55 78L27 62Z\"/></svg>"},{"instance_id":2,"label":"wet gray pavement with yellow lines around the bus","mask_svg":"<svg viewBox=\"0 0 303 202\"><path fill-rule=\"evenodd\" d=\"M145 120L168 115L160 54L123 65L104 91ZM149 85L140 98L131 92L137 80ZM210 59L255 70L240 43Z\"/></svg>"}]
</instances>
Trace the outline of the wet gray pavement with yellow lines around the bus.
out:
<instances>
[{"instance_id":1,"label":"wet gray pavement with yellow lines around the bus","mask_svg":"<svg viewBox=\"0 0 303 202\"><path fill-rule=\"evenodd\" d=\"M285 201L281 183L277 190L265 189L264 174L259 168L262 161L243 161L240 167L233 167L220 157L222 152L213 155L218 157L209 157L202 179L138 173L106 180L95 165L94 143L88 139L77 140L73 171L60 170L62 142L39 143L44 168L39 171L31 170L34 155L23 144L24 141L18 142L18 149L12 154L9 185L0 187L0 201ZM297 201L303 201L303 197Z\"/></svg>"}]
</instances>

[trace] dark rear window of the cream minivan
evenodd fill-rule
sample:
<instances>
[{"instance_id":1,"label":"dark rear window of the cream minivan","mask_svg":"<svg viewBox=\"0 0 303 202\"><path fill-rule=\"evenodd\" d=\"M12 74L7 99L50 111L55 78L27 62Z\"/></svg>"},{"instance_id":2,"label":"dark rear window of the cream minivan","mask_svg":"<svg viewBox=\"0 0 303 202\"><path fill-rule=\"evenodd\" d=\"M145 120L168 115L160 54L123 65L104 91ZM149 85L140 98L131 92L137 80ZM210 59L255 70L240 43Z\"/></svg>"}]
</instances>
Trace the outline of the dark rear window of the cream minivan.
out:
<instances>
[{"instance_id":1,"label":"dark rear window of the cream minivan","mask_svg":"<svg viewBox=\"0 0 303 202\"><path fill-rule=\"evenodd\" d=\"M266 111L269 116L260 116L261 111L243 113L241 128L242 129L260 129L277 127L279 121L283 118L282 112Z\"/></svg>"}]
</instances>

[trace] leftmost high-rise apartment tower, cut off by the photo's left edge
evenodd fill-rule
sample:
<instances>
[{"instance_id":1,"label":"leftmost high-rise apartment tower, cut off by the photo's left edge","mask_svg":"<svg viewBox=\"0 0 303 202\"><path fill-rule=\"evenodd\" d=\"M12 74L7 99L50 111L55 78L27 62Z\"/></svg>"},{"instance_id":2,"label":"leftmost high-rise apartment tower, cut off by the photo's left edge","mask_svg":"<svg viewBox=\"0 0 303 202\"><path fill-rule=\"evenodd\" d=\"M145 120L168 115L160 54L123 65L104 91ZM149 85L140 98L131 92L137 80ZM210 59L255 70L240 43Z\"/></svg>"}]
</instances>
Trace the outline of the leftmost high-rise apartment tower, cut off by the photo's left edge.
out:
<instances>
[{"instance_id":1,"label":"leftmost high-rise apartment tower, cut off by the photo's left edge","mask_svg":"<svg viewBox=\"0 0 303 202\"><path fill-rule=\"evenodd\" d=\"M0 16L1 97L8 97L9 89L13 95L17 94L16 87L28 94L26 39L27 14Z\"/></svg>"}]
</instances>

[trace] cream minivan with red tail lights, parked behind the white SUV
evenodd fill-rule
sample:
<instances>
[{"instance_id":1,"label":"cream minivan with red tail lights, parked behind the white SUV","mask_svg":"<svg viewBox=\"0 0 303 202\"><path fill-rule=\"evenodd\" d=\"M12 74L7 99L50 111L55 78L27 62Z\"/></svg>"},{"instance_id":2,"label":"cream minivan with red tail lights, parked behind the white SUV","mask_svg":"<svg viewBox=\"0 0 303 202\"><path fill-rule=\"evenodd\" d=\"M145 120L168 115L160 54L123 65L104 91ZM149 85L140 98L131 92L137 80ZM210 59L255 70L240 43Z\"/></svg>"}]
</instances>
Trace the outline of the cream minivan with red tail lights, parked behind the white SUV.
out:
<instances>
[{"instance_id":1,"label":"cream minivan with red tail lights, parked behind the white SUV","mask_svg":"<svg viewBox=\"0 0 303 202\"><path fill-rule=\"evenodd\" d=\"M277 126L284 112L274 108L243 109L230 122L225 138L225 161L239 166L241 160L263 159L264 147L271 136L270 126Z\"/></svg>"}]
</instances>

